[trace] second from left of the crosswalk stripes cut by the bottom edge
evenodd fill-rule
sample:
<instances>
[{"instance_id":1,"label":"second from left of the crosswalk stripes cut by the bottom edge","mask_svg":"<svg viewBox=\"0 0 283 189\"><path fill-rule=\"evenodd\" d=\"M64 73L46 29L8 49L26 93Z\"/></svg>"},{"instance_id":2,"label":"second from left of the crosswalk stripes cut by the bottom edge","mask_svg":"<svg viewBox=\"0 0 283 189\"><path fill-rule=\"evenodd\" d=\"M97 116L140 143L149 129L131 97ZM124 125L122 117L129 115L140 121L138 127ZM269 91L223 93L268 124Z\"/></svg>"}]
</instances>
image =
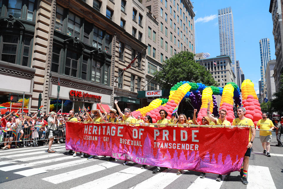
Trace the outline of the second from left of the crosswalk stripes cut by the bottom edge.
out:
<instances>
[{"instance_id":1,"label":"second from left of the crosswalk stripes cut by the bottom edge","mask_svg":"<svg viewBox=\"0 0 283 189\"><path fill-rule=\"evenodd\" d=\"M154 175L153 177L131 187L130 189L163 189L180 177L180 175L177 175L176 173L176 169L171 169L169 171L166 169L163 172L160 172L157 175Z\"/></svg>"}]
</instances>

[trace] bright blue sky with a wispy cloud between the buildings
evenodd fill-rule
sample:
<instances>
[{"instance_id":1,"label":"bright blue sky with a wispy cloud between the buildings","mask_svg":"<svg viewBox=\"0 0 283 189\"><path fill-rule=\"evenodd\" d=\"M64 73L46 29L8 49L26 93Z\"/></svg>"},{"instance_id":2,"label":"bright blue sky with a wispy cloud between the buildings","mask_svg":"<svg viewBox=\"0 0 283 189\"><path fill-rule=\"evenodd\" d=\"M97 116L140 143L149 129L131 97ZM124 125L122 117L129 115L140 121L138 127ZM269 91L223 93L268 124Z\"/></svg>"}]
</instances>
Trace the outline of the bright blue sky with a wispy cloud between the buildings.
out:
<instances>
[{"instance_id":1,"label":"bright blue sky with a wispy cloud between the buildings","mask_svg":"<svg viewBox=\"0 0 283 189\"><path fill-rule=\"evenodd\" d=\"M270 0L258 1L211 1L192 0L195 12L195 52L210 53L210 57L220 55L218 9L231 6L234 19L236 60L251 79L258 93L260 79L259 40L269 38L271 59L276 59L273 23L269 13ZM198 21L197 21L198 19Z\"/></svg>"}]
</instances>

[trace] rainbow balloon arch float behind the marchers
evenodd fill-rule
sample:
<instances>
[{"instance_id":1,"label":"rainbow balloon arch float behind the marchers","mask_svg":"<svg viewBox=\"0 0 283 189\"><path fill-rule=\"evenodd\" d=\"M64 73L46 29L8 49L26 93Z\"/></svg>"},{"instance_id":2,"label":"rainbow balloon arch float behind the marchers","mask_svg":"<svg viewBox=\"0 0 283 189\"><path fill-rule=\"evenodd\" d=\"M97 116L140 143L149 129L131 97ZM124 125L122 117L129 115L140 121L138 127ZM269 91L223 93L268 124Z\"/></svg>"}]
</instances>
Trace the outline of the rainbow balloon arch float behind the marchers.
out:
<instances>
[{"instance_id":1,"label":"rainbow balloon arch float behind the marchers","mask_svg":"<svg viewBox=\"0 0 283 189\"><path fill-rule=\"evenodd\" d=\"M242 99L241 99L242 92ZM258 97L254 90L254 84L250 79L243 81L241 86L241 92L238 85L234 82L227 83L224 88L205 86L202 83L191 83L181 81L175 84L170 89L169 99L159 98L155 99L146 107L139 108L132 112L132 116L137 118L138 115L144 117L150 115L153 123L161 119L159 110L165 110L168 113L167 119L171 118L173 110L177 105L185 98L189 98L193 107L199 110L197 121L203 116L206 116L208 100L210 103L210 113L218 116L218 106L215 95L221 95L221 102L219 110L226 110L226 117L228 121L232 122L235 118L233 107L243 106L246 108L245 117L253 120L254 124L258 122L262 117L262 112L259 104Z\"/></svg>"}]
</instances>

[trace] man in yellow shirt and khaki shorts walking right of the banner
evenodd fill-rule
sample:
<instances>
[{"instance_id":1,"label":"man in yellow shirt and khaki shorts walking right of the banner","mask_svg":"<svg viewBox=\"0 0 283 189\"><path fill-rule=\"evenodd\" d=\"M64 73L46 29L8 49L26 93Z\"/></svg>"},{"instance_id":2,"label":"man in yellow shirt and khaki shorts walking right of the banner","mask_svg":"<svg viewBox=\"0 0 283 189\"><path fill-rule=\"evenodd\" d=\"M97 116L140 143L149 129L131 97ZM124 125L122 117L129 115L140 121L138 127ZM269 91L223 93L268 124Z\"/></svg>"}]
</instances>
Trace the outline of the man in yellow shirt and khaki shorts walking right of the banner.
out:
<instances>
[{"instance_id":1,"label":"man in yellow shirt and khaki shorts walking right of the banner","mask_svg":"<svg viewBox=\"0 0 283 189\"><path fill-rule=\"evenodd\" d=\"M260 131L259 127L260 126ZM263 147L263 153L266 154L267 157L270 157L270 142L272 138L271 131L274 129L274 125L272 123L272 120L267 119L266 113L262 113L262 119L260 119L256 124L256 130L259 131L259 139L261 141L262 147ZM262 130L268 130L268 131L262 131Z\"/></svg>"}]
</instances>

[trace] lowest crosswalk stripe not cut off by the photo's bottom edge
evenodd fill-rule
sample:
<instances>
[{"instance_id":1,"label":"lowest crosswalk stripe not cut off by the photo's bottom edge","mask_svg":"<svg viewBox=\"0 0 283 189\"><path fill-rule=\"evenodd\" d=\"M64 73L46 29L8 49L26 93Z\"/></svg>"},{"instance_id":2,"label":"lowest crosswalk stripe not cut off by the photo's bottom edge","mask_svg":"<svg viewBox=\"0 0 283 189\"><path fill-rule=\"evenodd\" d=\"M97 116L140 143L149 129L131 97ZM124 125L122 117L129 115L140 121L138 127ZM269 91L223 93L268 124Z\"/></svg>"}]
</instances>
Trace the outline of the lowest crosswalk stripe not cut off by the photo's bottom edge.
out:
<instances>
[{"instance_id":1,"label":"lowest crosswalk stripe not cut off by the photo's bottom edge","mask_svg":"<svg viewBox=\"0 0 283 189\"><path fill-rule=\"evenodd\" d=\"M46 178L42 178L42 180L48 181L50 183L53 184L59 184L68 180L72 180L78 177L82 177L85 175L89 175L91 173L94 172L98 172L98 171L102 171L105 169L109 169L111 167L115 167L117 165L121 165L119 163L113 163L113 162L104 162L101 164L96 164L90 167L85 167L85 168L81 168L75 171L69 171L69 172L65 172L59 175L54 175L51 177L46 177Z\"/></svg>"}]
</instances>

